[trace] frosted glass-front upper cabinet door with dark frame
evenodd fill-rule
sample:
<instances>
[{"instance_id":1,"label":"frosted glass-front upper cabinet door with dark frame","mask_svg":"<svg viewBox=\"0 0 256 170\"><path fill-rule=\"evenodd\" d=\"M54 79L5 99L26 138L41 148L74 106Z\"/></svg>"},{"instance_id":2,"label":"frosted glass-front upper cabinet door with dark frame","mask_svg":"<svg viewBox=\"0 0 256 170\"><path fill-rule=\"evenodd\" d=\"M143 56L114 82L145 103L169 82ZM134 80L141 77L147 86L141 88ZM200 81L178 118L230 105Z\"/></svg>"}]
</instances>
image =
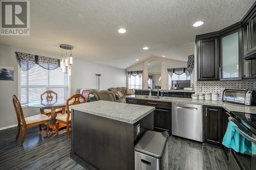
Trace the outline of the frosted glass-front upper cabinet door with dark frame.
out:
<instances>
[{"instance_id":1,"label":"frosted glass-front upper cabinet door with dark frame","mask_svg":"<svg viewBox=\"0 0 256 170\"><path fill-rule=\"evenodd\" d=\"M241 30L229 32L221 36L220 79L242 79Z\"/></svg>"}]
</instances>

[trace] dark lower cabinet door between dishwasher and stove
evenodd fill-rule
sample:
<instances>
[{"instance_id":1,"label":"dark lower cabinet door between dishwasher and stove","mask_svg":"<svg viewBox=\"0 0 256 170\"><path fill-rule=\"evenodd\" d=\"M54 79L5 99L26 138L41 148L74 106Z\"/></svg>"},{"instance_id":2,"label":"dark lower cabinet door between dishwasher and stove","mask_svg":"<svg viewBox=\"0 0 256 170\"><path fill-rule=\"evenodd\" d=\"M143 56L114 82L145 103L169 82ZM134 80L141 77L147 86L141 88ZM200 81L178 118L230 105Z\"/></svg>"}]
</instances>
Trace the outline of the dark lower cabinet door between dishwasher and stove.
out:
<instances>
[{"instance_id":1,"label":"dark lower cabinet door between dishwasher and stove","mask_svg":"<svg viewBox=\"0 0 256 170\"><path fill-rule=\"evenodd\" d=\"M204 106L204 142L221 145L223 113L221 107Z\"/></svg>"}]
</instances>

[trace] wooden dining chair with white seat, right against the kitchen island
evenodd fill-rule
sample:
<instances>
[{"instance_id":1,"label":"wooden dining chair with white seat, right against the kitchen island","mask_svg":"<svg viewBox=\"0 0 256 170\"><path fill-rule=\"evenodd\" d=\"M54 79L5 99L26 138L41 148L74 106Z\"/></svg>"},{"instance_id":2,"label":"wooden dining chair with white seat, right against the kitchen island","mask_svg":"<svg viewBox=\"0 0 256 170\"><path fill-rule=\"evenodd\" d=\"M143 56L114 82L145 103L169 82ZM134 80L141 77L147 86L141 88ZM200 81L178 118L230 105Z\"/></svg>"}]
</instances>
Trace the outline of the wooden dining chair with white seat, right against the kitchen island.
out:
<instances>
[{"instance_id":1,"label":"wooden dining chair with white seat, right against the kitchen island","mask_svg":"<svg viewBox=\"0 0 256 170\"><path fill-rule=\"evenodd\" d=\"M66 102L67 114L58 114L56 117L56 134L59 132L59 123L67 125L67 136L70 139L70 124L71 124L71 115L70 115L70 105L77 105L81 103L86 103L86 98L82 94L73 94Z\"/></svg>"}]
</instances>

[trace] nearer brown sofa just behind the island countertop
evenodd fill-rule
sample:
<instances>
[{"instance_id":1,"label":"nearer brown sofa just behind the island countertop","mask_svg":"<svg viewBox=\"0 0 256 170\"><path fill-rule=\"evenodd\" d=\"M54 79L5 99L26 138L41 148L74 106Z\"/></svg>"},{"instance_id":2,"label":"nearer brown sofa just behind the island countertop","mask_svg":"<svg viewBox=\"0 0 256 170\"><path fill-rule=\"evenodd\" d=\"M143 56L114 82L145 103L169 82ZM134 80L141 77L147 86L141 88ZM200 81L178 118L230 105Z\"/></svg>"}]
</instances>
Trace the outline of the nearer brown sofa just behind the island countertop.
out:
<instances>
[{"instance_id":1,"label":"nearer brown sofa just behind the island countertop","mask_svg":"<svg viewBox=\"0 0 256 170\"><path fill-rule=\"evenodd\" d=\"M110 101L110 102L120 102L120 103L125 103L125 99L119 99L116 100L115 94L112 91L109 90L91 90L91 94L94 95L92 101Z\"/></svg>"}]
</instances>

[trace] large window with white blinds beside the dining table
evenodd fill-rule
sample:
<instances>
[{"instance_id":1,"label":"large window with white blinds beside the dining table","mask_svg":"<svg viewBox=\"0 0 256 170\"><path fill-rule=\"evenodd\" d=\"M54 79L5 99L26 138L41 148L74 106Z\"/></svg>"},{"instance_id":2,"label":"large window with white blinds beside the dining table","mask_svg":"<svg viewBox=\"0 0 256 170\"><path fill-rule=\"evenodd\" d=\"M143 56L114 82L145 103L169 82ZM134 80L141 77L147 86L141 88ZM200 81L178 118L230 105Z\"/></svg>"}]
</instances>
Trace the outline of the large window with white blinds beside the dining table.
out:
<instances>
[{"instance_id":1,"label":"large window with white blinds beside the dining table","mask_svg":"<svg viewBox=\"0 0 256 170\"><path fill-rule=\"evenodd\" d=\"M28 71L20 69L20 103L40 100L41 93L53 90L58 99L67 99L70 95L69 76L60 67L52 70L35 64Z\"/></svg>"}]
</instances>

